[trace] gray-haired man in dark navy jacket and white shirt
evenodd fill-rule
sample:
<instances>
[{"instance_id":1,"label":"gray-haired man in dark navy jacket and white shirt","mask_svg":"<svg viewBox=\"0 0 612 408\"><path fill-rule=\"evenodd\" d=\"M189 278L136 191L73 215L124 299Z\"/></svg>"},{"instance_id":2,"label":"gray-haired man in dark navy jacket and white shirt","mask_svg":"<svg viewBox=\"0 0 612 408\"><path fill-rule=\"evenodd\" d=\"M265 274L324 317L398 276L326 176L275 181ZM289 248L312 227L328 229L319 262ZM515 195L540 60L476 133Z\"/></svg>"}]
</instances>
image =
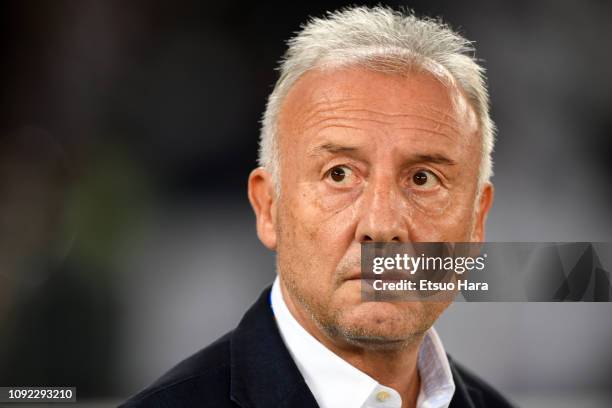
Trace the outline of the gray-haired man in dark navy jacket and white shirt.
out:
<instances>
[{"instance_id":1,"label":"gray-haired man in dark navy jacket and white shirt","mask_svg":"<svg viewBox=\"0 0 612 408\"><path fill-rule=\"evenodd\" d=\"M248 194L277 253L238 327L129 407L504 407L452 361L443 302L364 302L364 242L484 239L493 124L470 43L437 21L351 8L289 42Z\"/></svg>"}]
</instances>

